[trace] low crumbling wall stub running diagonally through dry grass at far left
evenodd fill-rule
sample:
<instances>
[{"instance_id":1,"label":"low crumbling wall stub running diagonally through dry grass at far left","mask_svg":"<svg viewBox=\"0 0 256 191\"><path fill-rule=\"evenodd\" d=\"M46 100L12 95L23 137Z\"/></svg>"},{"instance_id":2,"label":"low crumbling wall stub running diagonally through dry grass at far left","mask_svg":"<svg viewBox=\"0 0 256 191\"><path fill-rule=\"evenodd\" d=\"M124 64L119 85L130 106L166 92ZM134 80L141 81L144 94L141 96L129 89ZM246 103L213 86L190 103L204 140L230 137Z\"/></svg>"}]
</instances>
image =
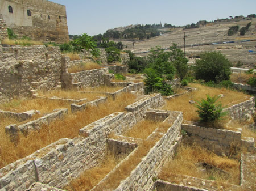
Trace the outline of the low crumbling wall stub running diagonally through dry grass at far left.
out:
<instances>
[{"instance_id":1,"label":"low crumbling wall stub running diagonally through dry grass at far left","mask_svg":"<svg viewBox=\"0 0 256 191\"><path fill-rule=\"evenodd\" d=\"M18 135L20 131L22 134L27 135L30 131L39 130L43 124L49 125L53 120L62 118L64 114L68 114L68 109L54 109L53 113L47 114L46 116L40 117L36 120L27 122L17 126L16 124L5 127L5 133L12 136Z\"/></svg>"}]
</instances>

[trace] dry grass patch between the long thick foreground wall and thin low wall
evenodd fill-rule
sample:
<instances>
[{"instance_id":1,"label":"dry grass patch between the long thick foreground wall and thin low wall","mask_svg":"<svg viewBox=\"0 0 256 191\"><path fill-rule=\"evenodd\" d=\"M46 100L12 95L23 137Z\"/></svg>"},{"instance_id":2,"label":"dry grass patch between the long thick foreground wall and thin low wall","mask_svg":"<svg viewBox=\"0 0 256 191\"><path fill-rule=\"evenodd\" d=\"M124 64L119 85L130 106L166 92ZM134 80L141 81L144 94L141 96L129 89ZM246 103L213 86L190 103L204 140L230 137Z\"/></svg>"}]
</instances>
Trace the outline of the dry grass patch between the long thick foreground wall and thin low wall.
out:
<instances>
[{"instance_id":1,"label":"dry grass patch between the long thick foreground wall and thin low wall","mask_svg":"<svg viewBox=\"0 0 256 191\"><path fill-rule=\"evenodd\" d=\"M86 170L79 178L65 186L67 191L89 191L98 184L126 155L115 155L109 152L97 166Z\"/></svg>"}]
</instances>

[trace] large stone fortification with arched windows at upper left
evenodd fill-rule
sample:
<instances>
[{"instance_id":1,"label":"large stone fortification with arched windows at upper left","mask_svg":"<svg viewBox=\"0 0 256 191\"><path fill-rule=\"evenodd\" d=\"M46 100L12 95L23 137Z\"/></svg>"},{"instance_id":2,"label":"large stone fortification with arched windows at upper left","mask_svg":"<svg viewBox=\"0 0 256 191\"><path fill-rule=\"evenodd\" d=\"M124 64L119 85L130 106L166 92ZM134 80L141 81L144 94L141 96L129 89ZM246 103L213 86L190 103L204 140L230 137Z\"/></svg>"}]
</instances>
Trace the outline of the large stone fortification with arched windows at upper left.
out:
<instances>
[{"instance_id":1,"label":"large stone fortification with arched windows at upper left","mask_svg":"<svg viewBox=\"0 0 256 191\"><path fill-rule=\"evenodd\" d=\"M0 0L0 15L19 37L57 43L69 40L64 5L47 0Z\"/></svg>"}]
</instances>

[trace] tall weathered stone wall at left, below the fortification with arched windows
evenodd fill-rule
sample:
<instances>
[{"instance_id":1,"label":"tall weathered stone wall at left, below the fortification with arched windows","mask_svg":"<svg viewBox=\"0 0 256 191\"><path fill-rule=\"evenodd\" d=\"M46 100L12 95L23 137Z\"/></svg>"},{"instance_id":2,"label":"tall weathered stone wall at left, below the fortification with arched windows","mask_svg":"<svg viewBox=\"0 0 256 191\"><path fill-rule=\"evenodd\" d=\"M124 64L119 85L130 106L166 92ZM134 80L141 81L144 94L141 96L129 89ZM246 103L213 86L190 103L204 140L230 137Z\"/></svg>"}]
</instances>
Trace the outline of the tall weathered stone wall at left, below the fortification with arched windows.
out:
<instances>
[{"instance_id":1,"label":"tall weathered stone wall at left, below the fortification with arched windows","mask_svg":"<svg viewBox=\"0 0 256 191\"><path fill-rule=\"evenodd\" d=\"M59 47L0 46L0 100L29 96L32 89L60 85Z\"/></svg>"}]
</instances>

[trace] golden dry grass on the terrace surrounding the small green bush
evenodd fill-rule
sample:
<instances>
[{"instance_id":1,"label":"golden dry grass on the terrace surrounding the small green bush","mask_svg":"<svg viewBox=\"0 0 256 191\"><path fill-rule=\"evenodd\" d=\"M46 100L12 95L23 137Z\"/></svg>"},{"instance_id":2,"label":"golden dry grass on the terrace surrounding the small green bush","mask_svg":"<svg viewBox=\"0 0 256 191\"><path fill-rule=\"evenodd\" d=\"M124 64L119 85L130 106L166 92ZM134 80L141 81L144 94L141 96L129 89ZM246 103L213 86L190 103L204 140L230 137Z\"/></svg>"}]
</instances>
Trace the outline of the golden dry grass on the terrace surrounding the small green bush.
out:
<instances>
[{"instance_id":1,"label":"golden dry grass on the terrace surrounding the small green bush","mask_svg":"<svg viewBox=\"0 0 256 191\"><path fill-rule=\"evenodd\" d=\"M184 94L168 100L163 109L181 111L183 112L184 120L199 121L199 117L196 112L197 108L194 104L189 104L189 100L200 101L201 99L206 99L206 95L214 96L223 94L224 97L218 99L218 101L220 101L222 107L230 107L233 104L250 99L249 95L243 94L242 92L228 90L226 88L212 88L197 83L192 83L190 85L191 87L197 88L197 90L192 91L190 94Z\"/></svg>"}]
</instances>

